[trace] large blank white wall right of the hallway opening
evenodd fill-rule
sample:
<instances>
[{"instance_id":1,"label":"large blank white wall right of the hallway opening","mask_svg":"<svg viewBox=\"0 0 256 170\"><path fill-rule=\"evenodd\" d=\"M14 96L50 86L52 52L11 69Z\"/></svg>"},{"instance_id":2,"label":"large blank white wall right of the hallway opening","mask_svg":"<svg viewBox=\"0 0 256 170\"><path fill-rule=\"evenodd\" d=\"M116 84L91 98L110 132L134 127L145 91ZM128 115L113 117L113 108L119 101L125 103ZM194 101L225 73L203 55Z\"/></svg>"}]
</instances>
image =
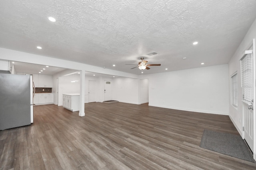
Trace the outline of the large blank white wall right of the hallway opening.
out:
<instances>
[{"instance_id":1,"label":"large blank white wall right of the hallway opening","mask_svg":"<svg viewBox=\"0 0 256 170\"><path fill-rule=\"evenodd\" d=\"M144 75L149 105L228 115L228 64Z\"/></svg>"}]
</instances>

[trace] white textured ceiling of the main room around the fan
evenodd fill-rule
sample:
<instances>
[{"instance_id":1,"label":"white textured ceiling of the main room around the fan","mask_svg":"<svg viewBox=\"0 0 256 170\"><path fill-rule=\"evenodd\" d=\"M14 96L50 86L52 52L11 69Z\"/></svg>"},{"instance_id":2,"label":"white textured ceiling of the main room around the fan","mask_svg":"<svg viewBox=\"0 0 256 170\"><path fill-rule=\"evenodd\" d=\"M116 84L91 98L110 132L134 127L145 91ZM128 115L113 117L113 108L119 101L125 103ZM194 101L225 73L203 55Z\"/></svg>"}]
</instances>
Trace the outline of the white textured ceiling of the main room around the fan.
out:
<instances>
[{"instance_id":1,"label":"white textured ceiling of the main room around the fan","mask_svg":"<svg viewBox=\"0 0 256 170\"><path fill-rule=\"evenodd\" d=\"M125 64L140 57L162 64L146 74L226 64L255 9L256 0L1 0L0 47L134 74Z\"/></svg>"}]
</instances>

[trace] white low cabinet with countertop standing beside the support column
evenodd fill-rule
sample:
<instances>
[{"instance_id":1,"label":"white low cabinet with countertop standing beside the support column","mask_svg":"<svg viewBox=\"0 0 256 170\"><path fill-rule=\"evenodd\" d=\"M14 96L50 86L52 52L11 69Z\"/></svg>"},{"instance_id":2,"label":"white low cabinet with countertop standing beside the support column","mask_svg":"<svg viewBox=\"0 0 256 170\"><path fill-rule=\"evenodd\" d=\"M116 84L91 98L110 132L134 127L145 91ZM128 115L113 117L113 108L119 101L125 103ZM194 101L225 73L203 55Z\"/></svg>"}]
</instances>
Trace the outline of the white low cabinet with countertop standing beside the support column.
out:
<instances>
[{"instance_id":1,"label":"white low cabinet with countertop standing beside the support column","mask_svg":"<svg viewBox=\"0 0 256 170\"><path fill-rule=\"evenodd\" d=\"M80 94L63 94L62 106L71 111L79 110Z\"/></svg>"}]
</instances>

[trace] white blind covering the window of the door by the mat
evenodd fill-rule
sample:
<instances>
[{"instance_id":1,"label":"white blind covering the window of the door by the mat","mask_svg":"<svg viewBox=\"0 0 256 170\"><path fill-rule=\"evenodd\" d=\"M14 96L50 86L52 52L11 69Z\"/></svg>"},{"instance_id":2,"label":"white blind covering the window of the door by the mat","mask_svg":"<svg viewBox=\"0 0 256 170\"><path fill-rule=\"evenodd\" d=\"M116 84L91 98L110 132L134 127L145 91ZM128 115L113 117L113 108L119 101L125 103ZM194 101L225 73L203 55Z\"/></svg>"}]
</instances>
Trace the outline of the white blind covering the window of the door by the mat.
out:
<instances>
[{"instance_id":1,"label":"white blind covering the window of the door by the mat","mask_svg":"<svg viewBox=\"0 0 256 170\"><path fill-rule=\"evenodd\" d=\"M241 75L242 75L242 93L244 102L251 102L253 99L252 88L252 55L247 54L241 60Z\"/></svg>"}]
</instances>

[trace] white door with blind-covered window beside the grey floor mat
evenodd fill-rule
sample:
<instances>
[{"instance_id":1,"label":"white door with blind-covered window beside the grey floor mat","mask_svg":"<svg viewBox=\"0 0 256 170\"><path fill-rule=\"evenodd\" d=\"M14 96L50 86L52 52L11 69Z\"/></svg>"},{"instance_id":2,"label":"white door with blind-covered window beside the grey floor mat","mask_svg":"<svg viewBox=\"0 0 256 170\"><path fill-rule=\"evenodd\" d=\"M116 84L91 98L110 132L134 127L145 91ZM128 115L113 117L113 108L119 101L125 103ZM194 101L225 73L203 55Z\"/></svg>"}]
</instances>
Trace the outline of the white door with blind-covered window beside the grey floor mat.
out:
<instances>
[{"instance_id":1,"label":"white door with blind-covered window beside the grey floor mat","mask_svg":"<svg viewBox=\"0 0 256 170\"><path fill-rule=\"evenodd\" d=\"M241 75L242 75L242 104L244 117L244 139L248 146L254 150L254 56L252 54L252 47L245 52L241 59Z\"/></svg>"}]
</instances>

